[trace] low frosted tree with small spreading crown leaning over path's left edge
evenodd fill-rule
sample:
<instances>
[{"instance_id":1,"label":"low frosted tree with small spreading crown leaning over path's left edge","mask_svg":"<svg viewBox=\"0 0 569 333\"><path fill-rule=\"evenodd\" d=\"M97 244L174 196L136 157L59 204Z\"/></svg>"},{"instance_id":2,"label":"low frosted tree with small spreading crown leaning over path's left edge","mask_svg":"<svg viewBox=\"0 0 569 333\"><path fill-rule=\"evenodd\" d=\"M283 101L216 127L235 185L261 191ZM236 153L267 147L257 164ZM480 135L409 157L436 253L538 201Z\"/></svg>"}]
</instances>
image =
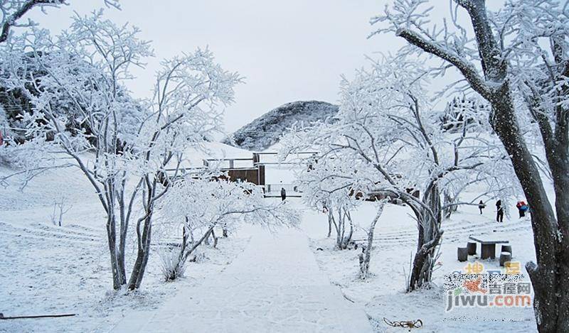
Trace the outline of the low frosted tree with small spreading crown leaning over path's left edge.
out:
<instances>
[{"instance_id":1,"label":"low frosted tree with small spreading crown leaning over path's left edge","mask_svg":"<svg viewBox=\"0 0 569 333\"><path fill-rule=\"evenodd\" d=\"M257 224L267 229L280 226L298 226L300 219L295 209L285 202L270 202L260 187L250 182L233 182L223 175L215 178L185 177L176 180L159 204L161 227L166 234L180 236L181 243L174 258L169 261L166 278L174 280L184 271L184 263L215 229L236 229L241 223ZM215 242L216 242L215 241Z\"/></svg>"}]
</instances>

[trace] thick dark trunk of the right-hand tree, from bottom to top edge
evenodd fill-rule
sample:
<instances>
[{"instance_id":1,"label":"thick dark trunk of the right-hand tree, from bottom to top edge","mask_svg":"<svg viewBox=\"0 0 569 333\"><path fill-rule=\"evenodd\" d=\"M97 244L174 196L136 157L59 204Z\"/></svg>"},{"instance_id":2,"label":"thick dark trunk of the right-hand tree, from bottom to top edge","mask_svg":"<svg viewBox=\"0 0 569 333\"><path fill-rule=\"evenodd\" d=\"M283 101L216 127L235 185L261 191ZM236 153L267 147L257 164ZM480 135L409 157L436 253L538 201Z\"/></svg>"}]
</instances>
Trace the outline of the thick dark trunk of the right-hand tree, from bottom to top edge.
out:
<instances>
[{"instance_id":1,"label":"thick dark trunk of the right-hand tree, from bottom to top edge","mask_svg":"<svg viewBox=\"0 0 569 333\"><path fill-rule=\"evenodd\" d=\"M564 239L560 239L559 236L563 234L563 231L567 231L563 226L567 226L568 221L560 221L558 224L555 219L539 170L519 130L511 87L506 76L508 63L502 60L504 57L492 34L489 18L486 16L485 3L477 0L473 1L472 6L465 8L472 18L484 75L491 82L502 82L499 89L485 96L492 107L491 124L510 155L516 176L532 209L531 224L538 264L528 263L526 269L535 292L533 307L538 329L540 332L567 332L569 327L569 270L567 267L569 265L569 239L566 234ZM558 153L565 153L566 149L567 146ZM555 173L555 165L550 165L550 167L552 173ZM553 177L555 182L556 175ZM567 188L563 190L566 191ZM561 210L569 207L569 202L563 202L563 198L564 196L561 197L562 201L556 204L556 206L563 207ZM567 200L566 197L565 200ZM559 217L563 218L561 215Z\"/></svg>"}]
</instances>

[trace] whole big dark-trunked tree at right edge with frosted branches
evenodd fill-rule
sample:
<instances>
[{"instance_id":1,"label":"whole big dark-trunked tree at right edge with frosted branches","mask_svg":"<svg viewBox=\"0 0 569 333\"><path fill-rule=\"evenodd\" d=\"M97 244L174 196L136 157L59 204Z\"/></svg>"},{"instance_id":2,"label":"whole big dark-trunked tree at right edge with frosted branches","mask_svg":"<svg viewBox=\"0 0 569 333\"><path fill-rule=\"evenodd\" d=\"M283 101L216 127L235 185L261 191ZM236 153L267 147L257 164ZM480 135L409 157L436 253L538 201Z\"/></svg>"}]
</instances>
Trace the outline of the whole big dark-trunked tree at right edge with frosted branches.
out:
<instances>
[{"instance_id":1,"label":"whole big dark-trunked tree at right edge with frosted branches","mask_svg":"<svg viewBox=\"0 0 569 333\"><path fill-rule=\"evenodd\" d=\"M489 119L514 166L528 203L537 263L526 270L536 293L540 332L569 327L569 12L554 0L504 1L490 11L484 0L454 0L451 23L430 25L427 0L396 0L372 23L409 43L405 53L433 55L440 75L454 68L491 105ZM459 23L466 14L472 24ZM472 33L470 32L472 31ZM534 125L535 124L535 125ZM521 126L541 136L555 189L555 209Z\"/></svg>"}]
</instances>

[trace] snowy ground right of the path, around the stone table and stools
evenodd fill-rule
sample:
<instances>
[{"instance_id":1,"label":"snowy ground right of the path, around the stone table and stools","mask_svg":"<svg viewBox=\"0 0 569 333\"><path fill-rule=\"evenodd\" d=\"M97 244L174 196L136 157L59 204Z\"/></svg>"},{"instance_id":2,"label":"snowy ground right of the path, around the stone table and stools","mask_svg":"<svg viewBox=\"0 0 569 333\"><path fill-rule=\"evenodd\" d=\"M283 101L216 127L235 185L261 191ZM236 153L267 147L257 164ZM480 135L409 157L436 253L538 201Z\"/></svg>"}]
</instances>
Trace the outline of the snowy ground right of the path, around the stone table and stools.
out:
<instances>
[{"instance_id":1,"label":"snowy ground right of the path, around the stone table and stools","mask_svg":"<svg viewBox=\"0 0 569 333\"><path fill-rule=\"evenodd\" d=\"M363 204L354 219L365 225L374 215L372 203ZM457 261L457 246L466 246L469 235L486 235L508 239L514 260L525 263L535 260L531 224L528 218L513 217L504 224L494 222L494 212L486 209L480 215L476 207L462 207L451 219L443 222L440 267L434 273L437 286L430 290L404 293L405 273L409 271L411 253L415 251L417 229L408 209L388 205L376 229L376 241L371 258L371 276L366 281L358 278L359 250L337 251L334 239L326 239L327 222L324 214L307 212L313 237L311 248L320 268L332 283L342 288L344 295L366 309L376 332L403 332L388 327L388 320L422 320L421 332L535 332L536 324L531 308L519 309L455 309L445 313L443 275L460 270L467 263ZM317 229L319 231L317 231ZM355 239L363 239L361 233ZM363 241L359 242L363 244ZM480 251L480 249L478 249ZM499 249L497 249L499 251ZM478 252L479 253L479 252ZM469 263L476 258L470 257ZM497 261L481 261L486 270L499 269ZM522 268L522 272L525 271Z\"/></svg>"}]
</instances>

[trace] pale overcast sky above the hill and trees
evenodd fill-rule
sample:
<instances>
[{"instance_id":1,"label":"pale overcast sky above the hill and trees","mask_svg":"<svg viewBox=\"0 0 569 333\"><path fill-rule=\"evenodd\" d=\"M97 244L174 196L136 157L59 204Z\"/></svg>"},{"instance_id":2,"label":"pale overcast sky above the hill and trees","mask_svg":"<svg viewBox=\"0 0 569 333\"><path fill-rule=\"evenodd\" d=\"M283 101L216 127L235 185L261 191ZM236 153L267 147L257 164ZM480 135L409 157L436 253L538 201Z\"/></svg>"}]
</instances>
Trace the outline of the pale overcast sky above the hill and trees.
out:
<instances>
[{"instance_id":1,"label":"pale overcast sky above the hill and trees","mask_svg":"<svg viewBox=\"0 0 569 333\"><path fill-rule=\"evenodd\" d=\"M149 97L159 60L208 46L227 70L245 84L225 113L225 129L235 131L287 102L316 99L338 102L341 75L366 65L365 55L395 52L403 40L382 35L368 39L371 16L387 0L121 0L122 10L106 9L116 23L129 22L151 40L156 58L129 82L136 97ZM57 33L73 11L89 13L103 0L70 0L70 6L32 13L34 21ZM436 16L448 11L447 0ZM434 21L438 21L435 19Z\"/></svg>"}]
</instances>

